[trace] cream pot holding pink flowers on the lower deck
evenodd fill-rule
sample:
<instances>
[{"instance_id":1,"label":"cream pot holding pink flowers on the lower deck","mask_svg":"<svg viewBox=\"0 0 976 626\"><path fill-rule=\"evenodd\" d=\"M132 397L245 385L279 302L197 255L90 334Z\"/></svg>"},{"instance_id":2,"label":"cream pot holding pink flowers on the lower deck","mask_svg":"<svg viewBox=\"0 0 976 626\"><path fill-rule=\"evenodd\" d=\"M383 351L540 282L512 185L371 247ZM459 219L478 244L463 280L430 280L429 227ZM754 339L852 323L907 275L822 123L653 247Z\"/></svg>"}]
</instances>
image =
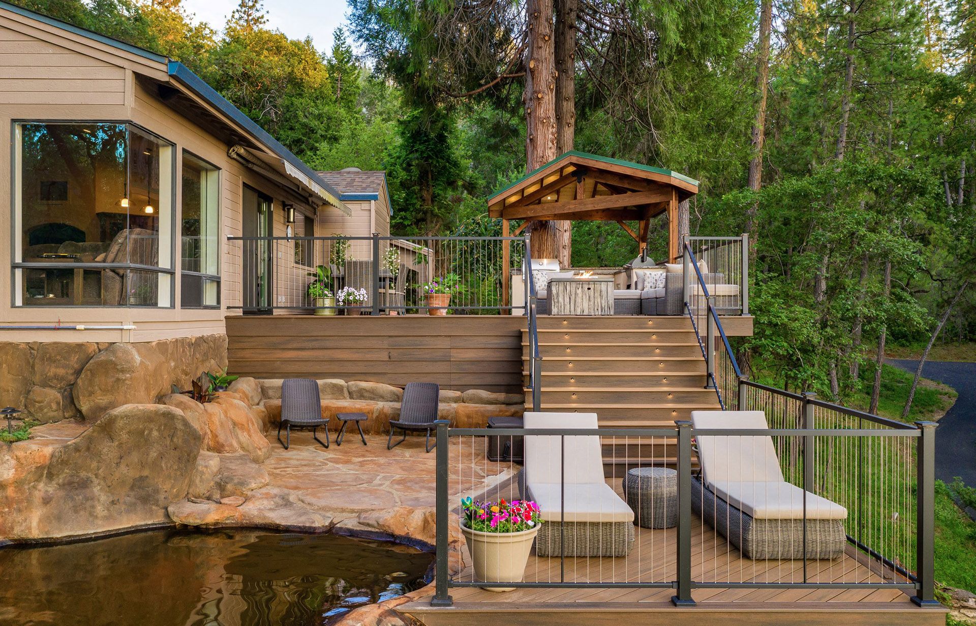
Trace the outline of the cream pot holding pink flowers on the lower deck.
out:
<instances>
[{"instance_id":1,"label":"cream pot holding pink flowers on the lower deck","mask_svg":"<svg viewBox=\"0 0 976 626\"><path fill-rule=\"evenodd\" d=\"M532 542L539 526L521 532L481 532L461 525L474 561L474 575L486 582L520 582L525 576ZM486 591L511 591L515 587L482 587Z\"/></svg>"}]
</instances>

